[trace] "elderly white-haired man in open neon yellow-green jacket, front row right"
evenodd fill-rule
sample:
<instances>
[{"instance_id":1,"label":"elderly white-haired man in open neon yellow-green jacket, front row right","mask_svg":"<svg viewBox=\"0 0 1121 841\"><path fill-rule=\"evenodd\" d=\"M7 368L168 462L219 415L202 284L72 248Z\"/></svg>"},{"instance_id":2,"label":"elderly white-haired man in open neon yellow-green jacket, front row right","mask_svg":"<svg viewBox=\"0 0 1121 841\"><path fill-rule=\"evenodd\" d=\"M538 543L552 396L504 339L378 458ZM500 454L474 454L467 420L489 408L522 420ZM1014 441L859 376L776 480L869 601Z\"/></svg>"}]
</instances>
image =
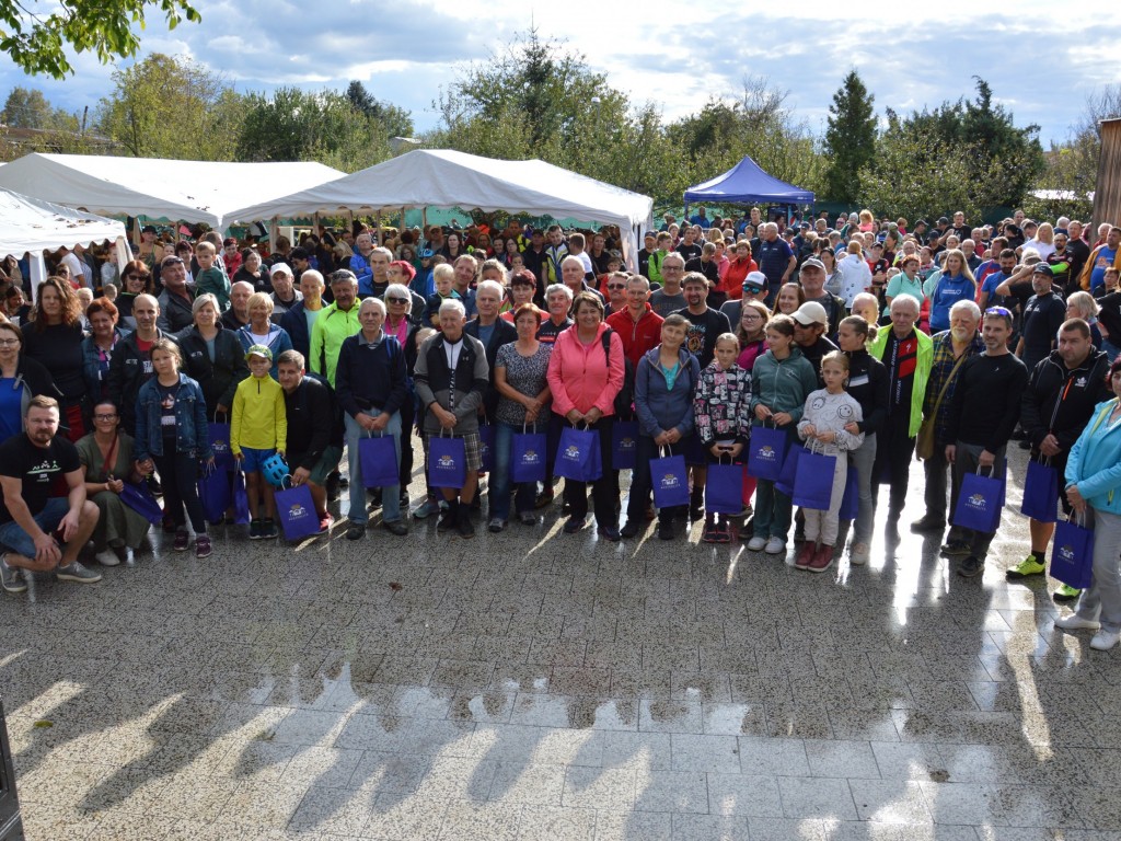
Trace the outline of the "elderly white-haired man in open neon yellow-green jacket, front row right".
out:
<instances>
[{"instance_id":1,"label":"elderly white-haired man in open neon yellow-green jacket, front row right","mask_svg":"<svg viewBox=\"0 0 1121 841\"><path fill-rule=\"evenodd\" d=\"M934 357L930 336L915 329L918 313L918 302L910 295L892 298L891 329L881 330L869 349L888 369L888 420L877 435L872 496L879 492L881 478L889 474L888 511L892 524L907 501L915 436L923 425L923 400Z\"/></svg>"}]
</instances>

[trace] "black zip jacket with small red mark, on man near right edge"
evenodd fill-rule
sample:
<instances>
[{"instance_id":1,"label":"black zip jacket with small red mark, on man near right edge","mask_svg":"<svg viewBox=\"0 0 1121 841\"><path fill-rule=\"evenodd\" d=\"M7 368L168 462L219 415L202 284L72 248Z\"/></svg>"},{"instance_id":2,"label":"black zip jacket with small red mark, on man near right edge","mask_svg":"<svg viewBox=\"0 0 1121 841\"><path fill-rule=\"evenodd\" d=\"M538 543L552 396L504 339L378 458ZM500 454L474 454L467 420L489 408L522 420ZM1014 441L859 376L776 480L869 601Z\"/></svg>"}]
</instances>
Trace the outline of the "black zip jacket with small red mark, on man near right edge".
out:
<instances>
[{"instance_id":1,"label":"black zip jacket with small red mark, on man near right edge","mask_svg":"<svg viewBox=\"0 0 1121 841\"><path fill-rule=\"evenodd\" d=\"M1069 452L1094 414L1094 407L1109 397L1105 372L1109 358L1091 351L1086 361L1073 371L1051 351L1028 375L1020 405L1020 425L1038 450L1044 438L1054 435L1064 452Z\"/></svg>"}]
</instances>

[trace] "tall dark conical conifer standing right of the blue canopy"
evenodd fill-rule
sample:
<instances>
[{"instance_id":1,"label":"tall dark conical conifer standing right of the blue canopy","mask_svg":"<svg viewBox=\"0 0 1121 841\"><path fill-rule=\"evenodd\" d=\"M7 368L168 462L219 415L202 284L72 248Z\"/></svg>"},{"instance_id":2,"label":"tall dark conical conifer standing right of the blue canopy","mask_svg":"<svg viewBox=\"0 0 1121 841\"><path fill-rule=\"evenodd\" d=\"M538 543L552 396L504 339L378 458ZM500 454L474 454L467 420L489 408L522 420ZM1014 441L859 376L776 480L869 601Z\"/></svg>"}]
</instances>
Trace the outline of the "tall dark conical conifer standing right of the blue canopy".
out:
<instances>
[{"instance_id":1,"label":"tall dark conical conifer standing right of the blue canopy","mask_svg":"<svg viewBox=\"0 0 1121 841\"><path fill-rule=\"evenodd\" d=\"M874 101L855 70L833 94L824 149L825 197L853 204L860 197L860 170L876 155Z\"/></svg>"}]
</instances>

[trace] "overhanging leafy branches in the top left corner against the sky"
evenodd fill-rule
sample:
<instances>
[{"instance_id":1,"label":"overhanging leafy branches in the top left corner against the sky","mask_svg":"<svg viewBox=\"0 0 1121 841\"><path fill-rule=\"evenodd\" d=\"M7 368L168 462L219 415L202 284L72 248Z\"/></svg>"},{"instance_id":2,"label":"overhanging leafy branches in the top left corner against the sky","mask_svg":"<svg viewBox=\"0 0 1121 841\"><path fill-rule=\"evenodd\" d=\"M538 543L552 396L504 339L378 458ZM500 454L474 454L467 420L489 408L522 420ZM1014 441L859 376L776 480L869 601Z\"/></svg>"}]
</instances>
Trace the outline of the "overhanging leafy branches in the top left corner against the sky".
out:
<instances>
[{"instance_id":1,"label":"overhanging leafy branches in the top left corner against the sky","mask_svg":"<svg viewBox=\"0 0 1121 841\"><path fill-rule=\"evenodd\" d=\"M0 0L0 49L28 74L64 78L74 73L64 48L93 52L102 64L130 58L140 46L149 11L168 29L202 17L187 0L66 0L64 3Z\"/></svg>"}]
</instances>

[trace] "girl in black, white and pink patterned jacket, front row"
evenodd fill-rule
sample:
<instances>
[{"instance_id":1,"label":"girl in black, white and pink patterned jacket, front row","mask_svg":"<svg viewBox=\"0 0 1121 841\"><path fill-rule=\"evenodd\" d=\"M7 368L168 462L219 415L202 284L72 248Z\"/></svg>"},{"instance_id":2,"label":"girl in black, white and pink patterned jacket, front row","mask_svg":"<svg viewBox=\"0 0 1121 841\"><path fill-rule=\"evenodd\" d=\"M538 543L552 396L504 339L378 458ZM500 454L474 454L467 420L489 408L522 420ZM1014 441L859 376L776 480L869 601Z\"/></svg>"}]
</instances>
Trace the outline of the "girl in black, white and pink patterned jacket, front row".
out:
<instances>
[{"instance_id":1,"label":"girl in black, white and pink patterned jacket, front row","mask_svg":"<svg viewBox=\"0 0 1121 841\"><path fill-rule=\"evenodd\" d=\"M693 414L697 437L708 463L728 456L740 463L751 436L751 373L736 364L740 340L734 333L716 336L715 358L701 372ZM729 515L714 514L705 505L704 543L730 543L734 538Z\"/></svg>"}]
</instances>

